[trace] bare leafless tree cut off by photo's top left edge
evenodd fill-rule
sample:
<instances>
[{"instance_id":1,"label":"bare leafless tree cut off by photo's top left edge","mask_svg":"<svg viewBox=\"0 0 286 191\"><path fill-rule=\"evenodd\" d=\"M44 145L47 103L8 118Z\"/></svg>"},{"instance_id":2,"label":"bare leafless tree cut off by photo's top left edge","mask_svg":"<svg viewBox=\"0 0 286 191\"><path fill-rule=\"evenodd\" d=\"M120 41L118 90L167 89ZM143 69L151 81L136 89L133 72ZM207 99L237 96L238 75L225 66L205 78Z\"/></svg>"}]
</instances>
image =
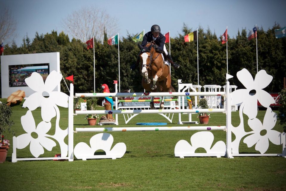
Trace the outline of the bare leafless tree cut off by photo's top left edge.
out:
<instances>
[{"instance_id":1,"label":"bare leafless tree cut off by photo's top left edge","mask_svg":"<svg viewBox=\"0 0 286 191\"><path fill-rule=\"evenodd\" d=\"M0 42L6 40L9 37L15 36L16 21L14 20L11 10L3 6L0 14Z\"/></svg>"}]
</instances>

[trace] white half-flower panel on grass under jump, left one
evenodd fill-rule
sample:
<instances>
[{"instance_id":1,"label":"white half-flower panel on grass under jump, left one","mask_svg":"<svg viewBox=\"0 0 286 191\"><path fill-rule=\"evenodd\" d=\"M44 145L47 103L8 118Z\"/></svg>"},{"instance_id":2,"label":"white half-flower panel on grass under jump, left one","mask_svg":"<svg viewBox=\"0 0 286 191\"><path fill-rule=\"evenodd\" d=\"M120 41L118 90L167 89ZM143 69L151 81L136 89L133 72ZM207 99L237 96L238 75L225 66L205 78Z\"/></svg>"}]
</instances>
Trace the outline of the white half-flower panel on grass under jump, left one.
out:
<instances>
[{"instance_id":1,"label":"white half-flower panel on grass under jump, left one","mask_svg":"<svg viewBox=\"0 0 286 191\"><path fill-rule=\"evenodd\" d=\"M109 133L99 133L91 137L90 146L80 142L74 147L74 156L77 159L87 158L121 158L126 152L124 143L117 143L111 149L113 144L113 136ZM104 150L106 155L94 155L97 150Z\"/></svg>"}]
</instances>

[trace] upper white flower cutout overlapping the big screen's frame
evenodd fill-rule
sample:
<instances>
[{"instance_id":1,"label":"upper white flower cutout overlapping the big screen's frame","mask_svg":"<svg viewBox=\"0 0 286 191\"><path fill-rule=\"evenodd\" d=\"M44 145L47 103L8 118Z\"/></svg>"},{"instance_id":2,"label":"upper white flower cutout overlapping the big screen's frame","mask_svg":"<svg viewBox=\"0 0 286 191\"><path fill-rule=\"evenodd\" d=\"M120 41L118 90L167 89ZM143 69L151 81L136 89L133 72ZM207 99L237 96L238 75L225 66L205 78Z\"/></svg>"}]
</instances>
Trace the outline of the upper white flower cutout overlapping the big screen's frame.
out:
<instances>
[{"instance_id":1,"label":"upper white flower cutout overlapping the big screen's frame","mask_svg":"<svg viewBox=\"0 0 286 191\"><path fill-rule=\"evenodd\" d=\"M36 93L29 96L23 106L28 107L31 111L41 106L43 121L51 121L51 119L56 116L55 105L68 107L69 96L62 92L53 91L55 87L60 84L61 79L62 76L53 70L44 83L42 76L33 72L29 78L25 79L25 82ZM47 92L49 97L44 97L42 95L43 92Z\"/></svg>"}]
</instances>

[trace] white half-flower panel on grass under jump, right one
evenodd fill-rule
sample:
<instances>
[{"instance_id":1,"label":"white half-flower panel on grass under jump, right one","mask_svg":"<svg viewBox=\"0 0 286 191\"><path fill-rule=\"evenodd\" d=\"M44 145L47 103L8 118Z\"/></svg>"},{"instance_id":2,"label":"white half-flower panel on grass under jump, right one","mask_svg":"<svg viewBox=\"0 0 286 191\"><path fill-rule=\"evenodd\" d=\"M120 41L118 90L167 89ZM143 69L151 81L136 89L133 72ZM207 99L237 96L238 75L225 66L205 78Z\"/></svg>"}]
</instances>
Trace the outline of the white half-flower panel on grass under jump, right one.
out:
<instances>
[{"instance_id":1,"label":"white half-flower panel on grass under jump, right one","mask_svg":"<svg viewBox=\"0 0 286 191\"><path fill-rule=\"evenodd\" d=\"M206 150L206 156L224 156L226 154L226 144L223 141L217 141L211 148L213 141L214 135L211 132L200 131L192 135L191 144L186 140L178 141L175 146L175 156L195 156L195 150L200 147Z\"/></svg>"}]
</instances>

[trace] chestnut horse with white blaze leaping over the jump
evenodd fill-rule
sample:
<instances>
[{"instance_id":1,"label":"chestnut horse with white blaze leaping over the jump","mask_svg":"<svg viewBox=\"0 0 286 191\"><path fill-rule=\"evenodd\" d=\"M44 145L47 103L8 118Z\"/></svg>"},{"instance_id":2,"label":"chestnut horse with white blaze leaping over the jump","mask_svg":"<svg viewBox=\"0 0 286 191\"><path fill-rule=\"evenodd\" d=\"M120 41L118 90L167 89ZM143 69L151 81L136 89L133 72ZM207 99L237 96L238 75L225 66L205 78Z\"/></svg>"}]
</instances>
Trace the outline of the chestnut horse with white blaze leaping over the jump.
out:
<instances>
[{"instance_id":1,"label":"chestnut horse with white blaze leaping over the jump","mask_svg":"<svg viewBox=\"0 0 286 191\"><path fill-rule=\"evenodd\" d=\"M171 85L170 66L164 64L161 52L155 50L154 45L153 41L147 43L145 47L138 44L141 50L139 56L142 86L149 92L175 92ZM161 99L160 109L164 109L164 96ZM151 99L150 107L155 109L154 97Z\"/></svg>"}]
</instances>

